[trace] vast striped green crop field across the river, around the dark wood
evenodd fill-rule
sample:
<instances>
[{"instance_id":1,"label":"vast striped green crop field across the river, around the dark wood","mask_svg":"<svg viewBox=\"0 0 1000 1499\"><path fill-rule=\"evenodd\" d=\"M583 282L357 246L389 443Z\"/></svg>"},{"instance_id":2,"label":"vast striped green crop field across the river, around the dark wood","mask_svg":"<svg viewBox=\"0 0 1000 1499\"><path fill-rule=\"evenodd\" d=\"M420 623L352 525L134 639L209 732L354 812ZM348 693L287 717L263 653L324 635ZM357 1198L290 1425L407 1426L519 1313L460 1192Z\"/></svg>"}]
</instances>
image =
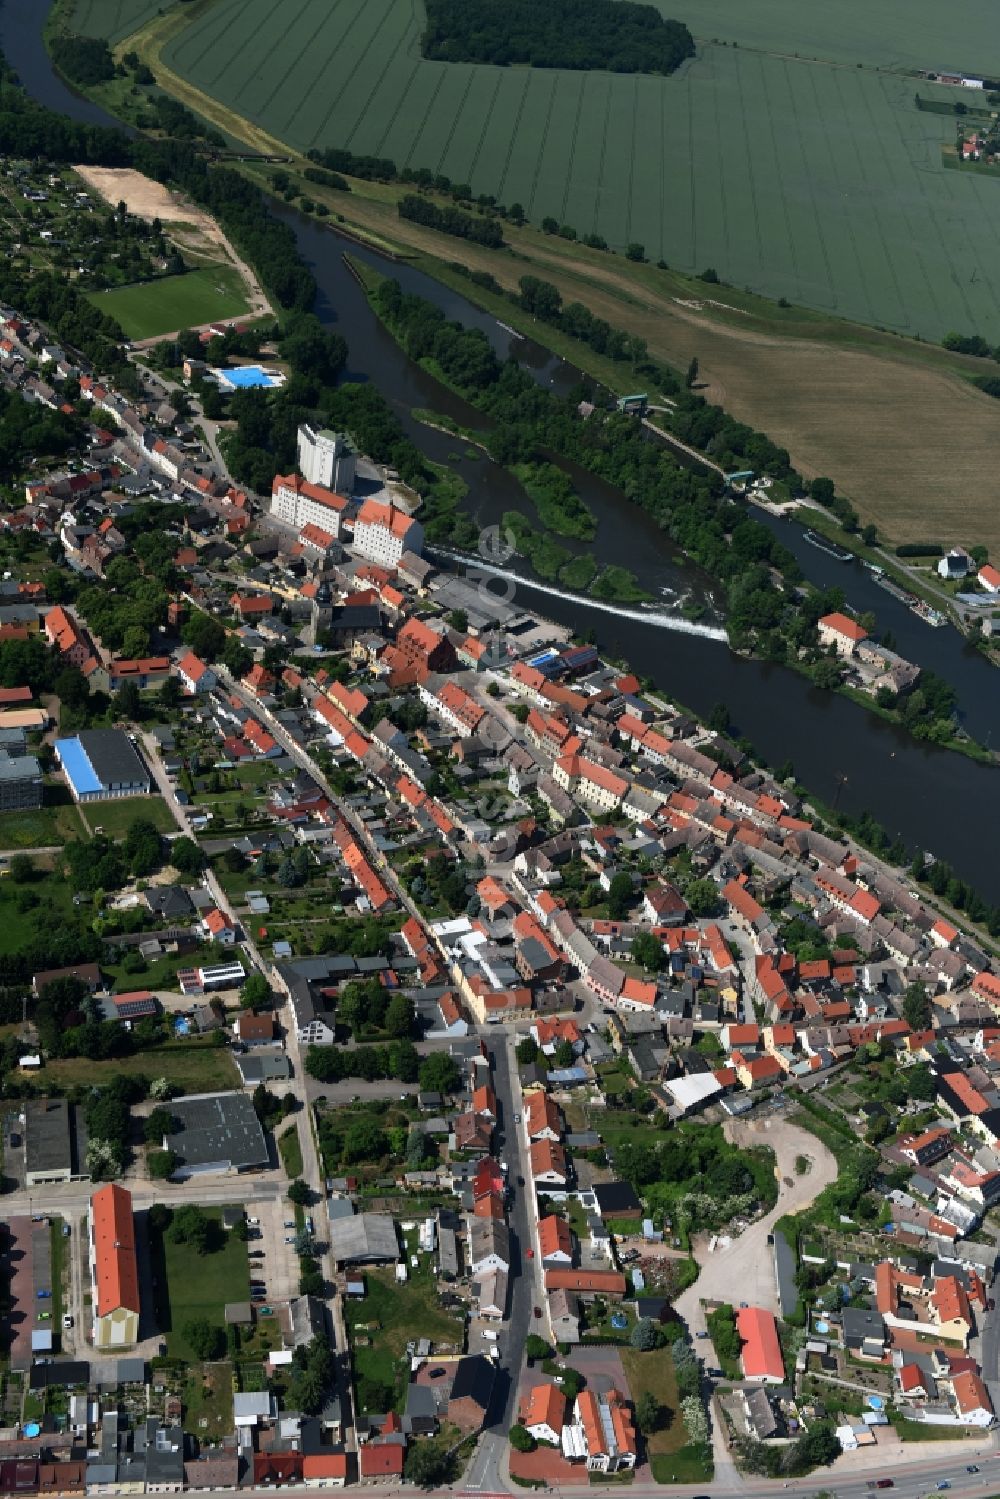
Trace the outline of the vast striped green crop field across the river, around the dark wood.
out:
<instances>
[{"instance_id":1,"label":"vast striped green crop field across the river, around the dark wood","mask_svg":"<svg viewBox=\"0 0 1000 1499\"><path fill-rule=\"evenodd\" d=\"M708 0L720 34L736 3ZM802 19L789 0L765 3L741 25L774 40L784 9L808 31L801 51L835 46L816 6ZM862 0L847 3L862 13ZM930 25L934 0L916 3L928 36L909 45L931 66L948 27ZM909 7L888 9L909 25ZM303 150L429 166L535 222L552 214L616 247L637 240L652 259L712 265L844 318L1000 339L1000 184L943 169L954 120L918 112L913 79L712 43L667 79L426 63L421 24L417 0L214 0L163 61ZM885 21L877 30L883 57L894 37Z\"/></svg>"}]
</instances>

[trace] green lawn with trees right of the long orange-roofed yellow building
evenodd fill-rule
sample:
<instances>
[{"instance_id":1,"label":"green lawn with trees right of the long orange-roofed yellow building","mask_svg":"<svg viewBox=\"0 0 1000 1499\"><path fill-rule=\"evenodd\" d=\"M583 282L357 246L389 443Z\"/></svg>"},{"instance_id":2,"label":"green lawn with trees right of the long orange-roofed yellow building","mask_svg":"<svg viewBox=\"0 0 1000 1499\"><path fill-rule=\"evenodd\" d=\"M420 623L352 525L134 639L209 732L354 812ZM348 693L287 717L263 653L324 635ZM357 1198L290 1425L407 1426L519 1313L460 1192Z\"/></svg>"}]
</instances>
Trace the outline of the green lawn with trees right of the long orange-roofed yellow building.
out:
<instances>
[{"instance_id":1,"label":"green lawn with trees right of the long orange-roofed yellow building","mask_svg":"<svg viewBox=\"0 0 1000 1499\"><path fill-rule=\"evenodd\" d=\"M205 1208L205 1214L220 1219L219 1208ZM150 1232L150 1256L153 1274L157 1279L157 1319L166 1337L171 1358L193 1361L195 1355L184 1340L184 1325L204 1318L223 1327L228 1301L249 1301L250 1270L246 1244L235 1234L225 1234L222 1244L211 1255L199 1255L190 1244L175 1244L169 1237Z\"/></svg>"}]
</instances>

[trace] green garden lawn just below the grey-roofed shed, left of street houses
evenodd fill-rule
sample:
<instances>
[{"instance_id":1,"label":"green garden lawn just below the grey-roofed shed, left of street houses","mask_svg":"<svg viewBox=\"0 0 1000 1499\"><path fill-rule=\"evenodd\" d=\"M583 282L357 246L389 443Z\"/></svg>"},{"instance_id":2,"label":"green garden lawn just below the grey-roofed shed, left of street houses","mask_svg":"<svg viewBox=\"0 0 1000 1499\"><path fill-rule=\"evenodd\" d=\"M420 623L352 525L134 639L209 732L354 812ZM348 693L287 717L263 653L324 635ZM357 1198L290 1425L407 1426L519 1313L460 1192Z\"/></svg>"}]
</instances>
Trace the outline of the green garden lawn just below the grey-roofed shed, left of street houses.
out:
<instances>
[{"instance_id":1,"label":"green garden lawn just below the grey-roofed shed, left of street houses","mask_svg":"<svg viewBox=\"0 0 1000 1499\"><path fill-rule=\"evenodd\" d=\"M429 1337L438 1348L456 1345L462 1349L463 1325L459 1318L442 1312L432 1256L421 1255L418 1270L409 1271L405 1285L396 1283L391 1270L369 1270L364 1276L367 1295L363 1301L345 1301L343 1312L351 1330L354 1373L363 1381L388 1385L393 1406L402 1409L406 1390L406 1343L412 1337ZM355 1334L355 1328L369 1327ZM370 1339L369 1348L358 1348L357 1337ZM358 1406L364 1409L361 1396Z\"/></svg>"}]
</instances>

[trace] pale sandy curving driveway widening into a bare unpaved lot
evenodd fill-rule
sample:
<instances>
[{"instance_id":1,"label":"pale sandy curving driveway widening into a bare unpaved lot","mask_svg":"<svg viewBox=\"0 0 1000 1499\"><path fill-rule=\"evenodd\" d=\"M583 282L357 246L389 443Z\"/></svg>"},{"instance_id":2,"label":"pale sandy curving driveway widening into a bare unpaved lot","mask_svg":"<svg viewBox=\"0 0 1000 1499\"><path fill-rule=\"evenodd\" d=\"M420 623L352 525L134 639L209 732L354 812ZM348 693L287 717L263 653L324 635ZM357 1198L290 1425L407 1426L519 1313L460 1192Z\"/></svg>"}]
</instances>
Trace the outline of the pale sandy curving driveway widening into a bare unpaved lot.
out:
<instances>
[{"instance_id":1,"label":"pale sandy curving driveway widening into a bare unpaved lot","mask_svg":"<svg viewBox=\"0 0 1000 1499\"><path fill-rule=\"evenodd\" d=\"M702 1267L699 1279L675 1307L691 1333L703 1333L703 1301L748 1301L751 1306L778 1312L778 1292L768 1235L786 1213L802 1213L831 1181L837 1181L837 1159L814 1135L784 1118L727 1120L726 1138L733 1145L769 1145L777 1157L781 1181L778 1201L766 1217L751 1223L745 1234L733 1238L727 1249L709 1253L711 1240L700 1235L694 1241L694 1258ZM796 1156L811 1162L805 1175L795 1171ZM790 1181L792 1186L786 1186Z\"/></svg>"}]
</instances>

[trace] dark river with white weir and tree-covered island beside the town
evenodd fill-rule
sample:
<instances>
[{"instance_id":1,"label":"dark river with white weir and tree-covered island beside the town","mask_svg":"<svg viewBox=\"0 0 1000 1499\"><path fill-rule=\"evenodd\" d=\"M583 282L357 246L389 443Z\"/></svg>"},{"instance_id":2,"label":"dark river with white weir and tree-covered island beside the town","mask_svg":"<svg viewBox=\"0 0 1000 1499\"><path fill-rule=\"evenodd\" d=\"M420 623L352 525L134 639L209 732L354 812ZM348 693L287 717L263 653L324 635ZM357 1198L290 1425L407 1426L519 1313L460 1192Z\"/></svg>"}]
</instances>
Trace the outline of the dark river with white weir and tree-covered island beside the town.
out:
<instances>
[{"instance_id":1,"label":"dark river with white weir and tree-covered island beside the town","mask_svg":"<svg viewBox=\"0 0 1000 1499\"><path fill-rule=\"evenodd\" d=\"M100 109L73 94L54 73L40 43L40 28L51 0L3 0L0 48L18 70L24 87L42 103L88 123L114 123ZM451 289L412 267L396 265L361 249L334 229L291 214L303 256L319 285L316 310L348 340L348 378L372 379L393 403L409 436L438 462L451 462L469 484L469 505L490 522L511 505L531 507L514 480L484 459L453 459L465 444L432 432L411 417L424 406L474 426L481 418L436 381L414 366L390 339L343 264L343 252L361 256L378 270L397 276L408 291L427 295L448 316L484 328L498 352L510 348L510 334L492 318ZM459 253L456 244L454 253ZM568 388L576 372L544 351L517 340L516 354L535 376L553 388ZM663 606L696 598L711 607L712 591L694 568L672 561L672 547L658 528L628 501L591 475L577 475L580 490L598 519L595 550L600 562L618 562L636 573ZM775 522L780 528L783 523ZM1000 714L997 678L985 663L967 654L954 630L931 630L898 606L855 568L826 558L795 535L781 531L816 582L838 582L858 609L874 609L880 628L892 628L898 649L933 666L954 682L966 723L975 735L991 732ZM573 543L567 543L574 549ZM523 571L523 568L520 570ZM868 597L868 591L871 597ZM948 859L985 899L1000 904L1000 866L982 841L982 829L1000 814L1000 775L963 755L915 744L847 699L819 693L787 667L745 661L709 634L670 631L636 618L612 616L583 598L553 597L528 583L517 585L517 601L576 630L592 630L600 646L627 660L636 672L694 712L706 715L726 703L738 733L745 735L771 764L790 760L799 779L819 797L846 811L873 812L891 835Z\"/></svg>"}]
</instances>

